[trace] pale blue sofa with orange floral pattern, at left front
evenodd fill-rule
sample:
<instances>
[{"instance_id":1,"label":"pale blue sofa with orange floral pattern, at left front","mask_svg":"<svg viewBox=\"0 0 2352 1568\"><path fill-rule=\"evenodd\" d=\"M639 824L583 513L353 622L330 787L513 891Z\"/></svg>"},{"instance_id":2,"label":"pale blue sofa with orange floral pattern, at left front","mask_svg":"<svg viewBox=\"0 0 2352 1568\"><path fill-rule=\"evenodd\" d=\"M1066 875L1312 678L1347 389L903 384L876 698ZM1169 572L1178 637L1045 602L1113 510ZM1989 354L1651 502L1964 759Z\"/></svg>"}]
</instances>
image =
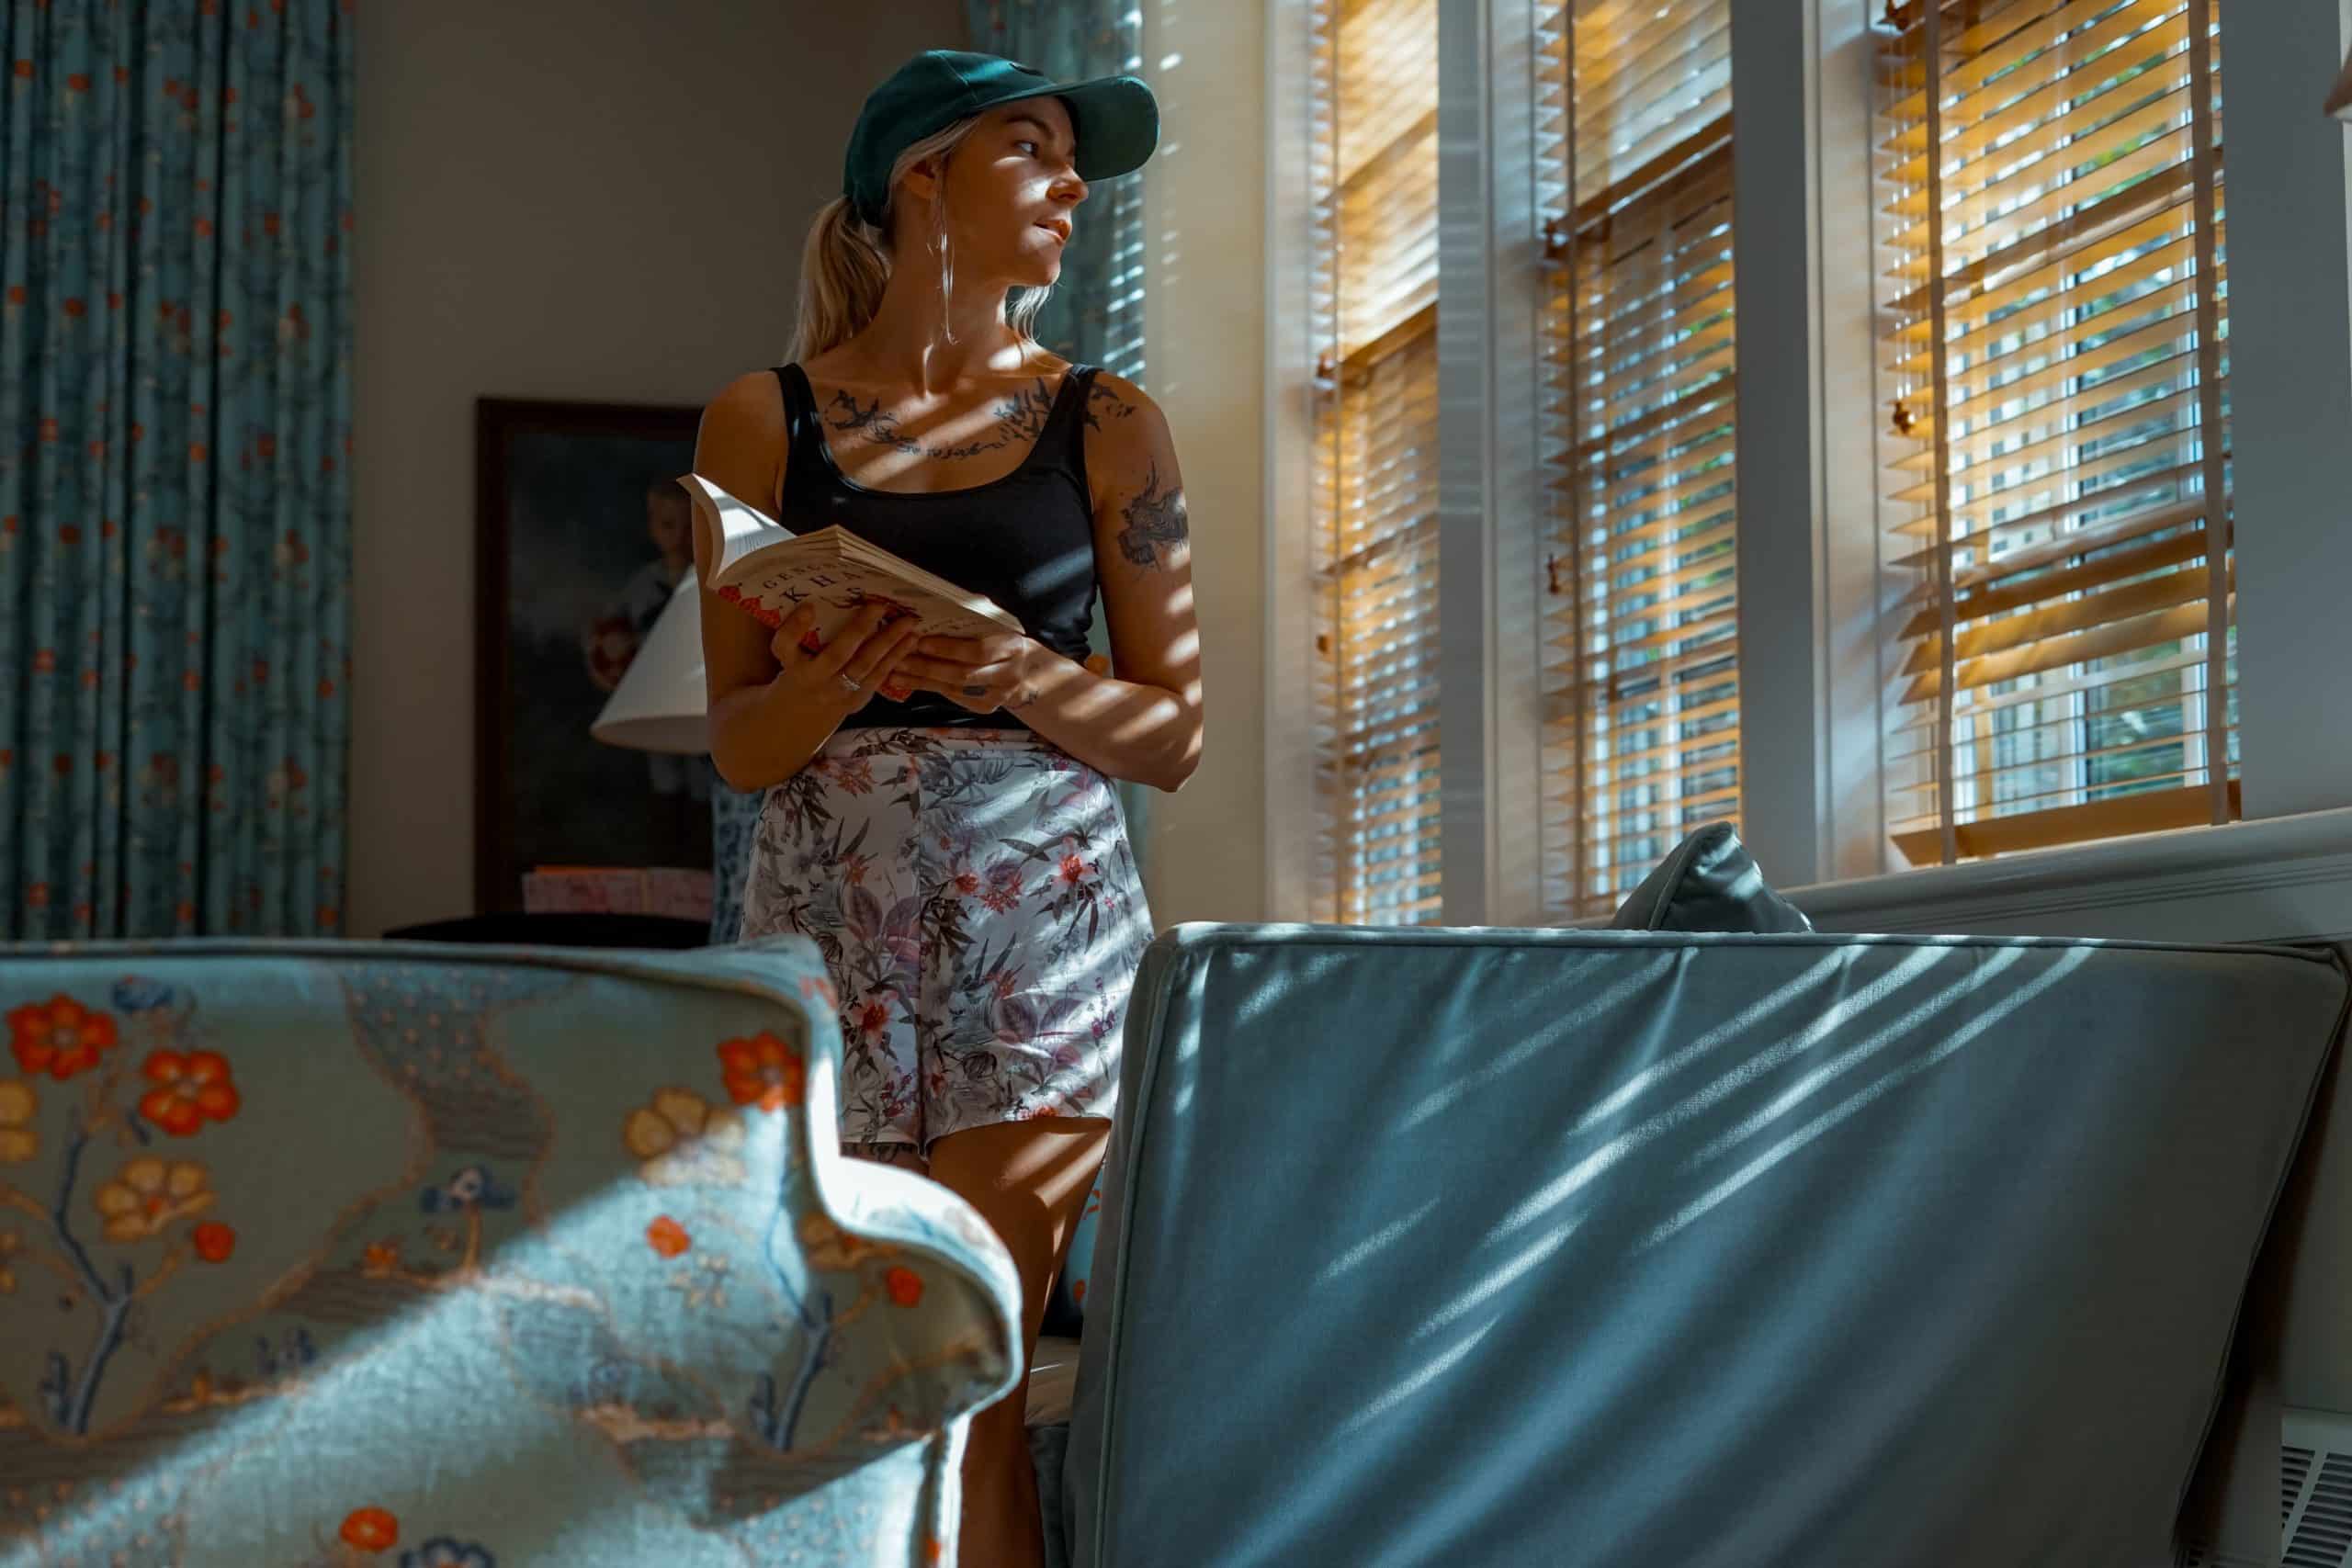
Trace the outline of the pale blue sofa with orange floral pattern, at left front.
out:
<instances>
[{"instance_id":1,"label":"pale blue sofa with orange floral pattern, at left front","mask_svg":"<svg viewBox=\"0 0 2352 1568\"><path fill-rule=\"evenodd\" d=\"M0 1563L953 1561L1018 1281L816 950L0 950Z\"/></svg>"}]
</instances>

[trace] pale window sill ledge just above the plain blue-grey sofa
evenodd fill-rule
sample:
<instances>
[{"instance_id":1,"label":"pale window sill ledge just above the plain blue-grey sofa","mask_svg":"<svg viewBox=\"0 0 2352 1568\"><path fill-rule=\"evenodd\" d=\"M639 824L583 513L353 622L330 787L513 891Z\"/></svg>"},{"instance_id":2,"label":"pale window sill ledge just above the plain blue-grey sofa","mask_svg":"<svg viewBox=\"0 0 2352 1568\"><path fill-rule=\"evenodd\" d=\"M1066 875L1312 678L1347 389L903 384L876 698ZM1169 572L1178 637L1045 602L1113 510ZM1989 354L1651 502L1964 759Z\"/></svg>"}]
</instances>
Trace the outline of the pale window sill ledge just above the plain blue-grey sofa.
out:
<instances>
[{"instance_id":1,"label":"pale window sill ledge just above the plain blue-grey sofa","mask_svg":"<svg viewBox=\"0 0 2352 1568\"><path fill-rule=\"evenodd\" d=\"M1823 931L2352 940L2352 809L1783 891Z\"/></svg>"}]
</instances>

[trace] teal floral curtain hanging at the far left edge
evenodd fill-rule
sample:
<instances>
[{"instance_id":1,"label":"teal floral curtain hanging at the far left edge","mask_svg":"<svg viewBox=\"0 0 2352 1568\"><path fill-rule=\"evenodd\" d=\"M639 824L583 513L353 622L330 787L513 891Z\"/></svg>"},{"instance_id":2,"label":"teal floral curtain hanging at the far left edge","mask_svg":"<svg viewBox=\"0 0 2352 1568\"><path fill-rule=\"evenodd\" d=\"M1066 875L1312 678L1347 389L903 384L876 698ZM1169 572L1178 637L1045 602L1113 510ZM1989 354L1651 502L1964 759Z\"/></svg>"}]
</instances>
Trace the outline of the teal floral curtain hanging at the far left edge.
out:
<instances>
[{"instance_id":1,"label":"teal floral curtain hanging at the far left edge","mask_svg":"<svg viewBox=\"0 0 2352 1568\"><path fill-rule=\"evenodd\" d=\"M0 21L0 936L341 922L350 9Z\"/></svg>"}]
</instances>

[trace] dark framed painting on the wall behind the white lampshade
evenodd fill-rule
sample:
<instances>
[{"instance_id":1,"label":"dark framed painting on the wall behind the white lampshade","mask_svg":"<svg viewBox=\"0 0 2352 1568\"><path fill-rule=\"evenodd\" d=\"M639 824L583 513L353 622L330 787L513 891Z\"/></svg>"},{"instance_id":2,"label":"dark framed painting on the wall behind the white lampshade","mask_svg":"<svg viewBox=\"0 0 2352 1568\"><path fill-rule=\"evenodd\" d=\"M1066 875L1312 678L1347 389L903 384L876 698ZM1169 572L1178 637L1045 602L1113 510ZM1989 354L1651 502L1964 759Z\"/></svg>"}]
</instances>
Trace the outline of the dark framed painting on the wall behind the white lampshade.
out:
<instances>
[{"instance_id":1,"label":"dark framed painting on the wall behind the white lampshade","mask_svg":"<svg viewBox=\"0 0 2352 1568\"><path fill-rule=\"evenodd\" d=\"M652 491L694 468L699 423L684 404L475 400L477 914L520 910L534 865L710 865L710 762L588 733L642 632L626 623L675 576Z\"/></svg>"}]
</instances>

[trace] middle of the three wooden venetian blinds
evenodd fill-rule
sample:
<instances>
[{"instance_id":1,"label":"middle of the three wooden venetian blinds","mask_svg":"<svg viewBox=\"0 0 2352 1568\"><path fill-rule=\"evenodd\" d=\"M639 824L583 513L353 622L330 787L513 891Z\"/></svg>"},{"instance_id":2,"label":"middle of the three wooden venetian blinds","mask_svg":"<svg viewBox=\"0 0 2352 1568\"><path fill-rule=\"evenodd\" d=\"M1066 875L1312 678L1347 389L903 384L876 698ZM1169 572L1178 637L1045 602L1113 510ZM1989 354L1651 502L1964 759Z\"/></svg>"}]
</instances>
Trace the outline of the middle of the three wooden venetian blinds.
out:
<instances>
[{"instance_id":1,"label":"middle of the three wooden venetian blinds","mask_svg":"<svg viewBox=\"0 0 2352 1568\"><path fill-rule=\"evenodd\" d=\"M1541 26L1545 886L1578 917L1740 809L1731 5Z\"/></svg>"}]
</instances>

